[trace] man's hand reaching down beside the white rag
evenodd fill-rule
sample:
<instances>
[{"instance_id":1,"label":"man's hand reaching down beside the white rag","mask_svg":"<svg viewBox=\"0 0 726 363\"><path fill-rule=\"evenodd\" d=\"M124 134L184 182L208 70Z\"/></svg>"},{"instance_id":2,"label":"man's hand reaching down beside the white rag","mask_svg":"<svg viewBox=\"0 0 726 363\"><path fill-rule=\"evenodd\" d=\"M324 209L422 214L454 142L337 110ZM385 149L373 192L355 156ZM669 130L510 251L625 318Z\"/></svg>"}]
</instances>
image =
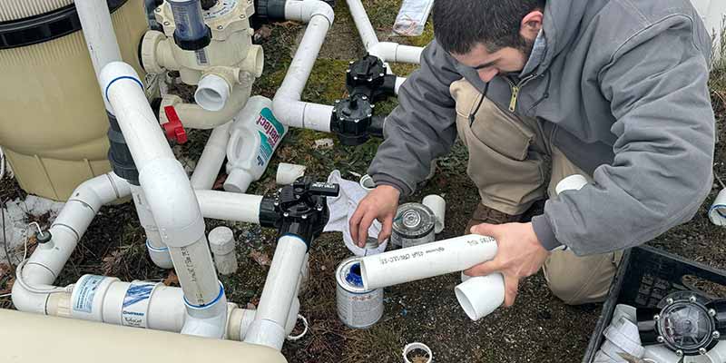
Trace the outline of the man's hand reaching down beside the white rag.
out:
<instances>
[{"instance_id":1,"label":"man's hand reaching down beside the white rag","mask_svg":"<svg viewBox=\"0 0 726 363\"><path fill-rule=\"evenodd\" d=\"M383 226L378 234L378 241L382 242L390 237L400 194L400 191L390 185L380 185L358 203L356 212L350 217L350 236L358 247L366 245L368 228L373 220L378 220Z\"/></svg>"}]
</instances>

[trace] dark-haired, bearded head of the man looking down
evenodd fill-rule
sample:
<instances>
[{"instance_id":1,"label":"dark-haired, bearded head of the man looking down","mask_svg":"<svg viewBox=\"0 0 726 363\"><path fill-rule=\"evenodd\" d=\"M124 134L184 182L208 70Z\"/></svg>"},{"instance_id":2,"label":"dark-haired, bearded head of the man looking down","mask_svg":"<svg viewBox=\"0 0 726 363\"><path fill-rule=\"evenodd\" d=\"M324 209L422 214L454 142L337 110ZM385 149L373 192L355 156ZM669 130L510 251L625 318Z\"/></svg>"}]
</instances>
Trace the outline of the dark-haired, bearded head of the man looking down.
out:
<instances>
[{"instance_id":1,"label":"dark-haired, bearded head of the man looking down","mask_svg":"<svg viewBox=\"0 0 726 363\"><path fill-rule=\"evenodd\" d=\"M518 73L542 29L545 0L437 0L437 42L461 64L489 82Z\"/></svg>"}]
</instances>

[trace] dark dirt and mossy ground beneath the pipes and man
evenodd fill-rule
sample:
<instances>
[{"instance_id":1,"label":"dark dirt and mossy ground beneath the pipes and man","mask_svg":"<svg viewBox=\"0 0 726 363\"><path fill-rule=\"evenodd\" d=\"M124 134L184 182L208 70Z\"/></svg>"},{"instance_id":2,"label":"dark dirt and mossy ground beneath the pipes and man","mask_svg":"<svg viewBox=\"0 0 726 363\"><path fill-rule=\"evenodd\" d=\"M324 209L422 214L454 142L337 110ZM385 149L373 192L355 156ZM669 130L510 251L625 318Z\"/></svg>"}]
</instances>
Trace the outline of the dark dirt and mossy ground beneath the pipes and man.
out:
<instances>
[{"instance_id":1,"label":"dark dirt and mossy ground beneath the pipes and man","mask_svg":"<svg viewBox=\"0 0 726 363\"><path fill-rule=\"evenodd\" d=\"M381 38L390 37L390 28L400 2L364 0L374 27ZM312 72L303 100L331 104L345 95L344 74L349 60L365 54L358 33L344 2L338 1L336 23L331 29ZM266 25L258 34L265 50L265 73L256 83L255 93L271 97L291 60L295 44L304 27L286 22ZM394 40L406 44L426 44L431 26L417 38ZM397 74L407 74L414 67L395 64ZM726 76L714 74L713 104L724 131L724 97ZM395 105L390 100L377 112L387 113ZM209 132L191 132L191 142L175 151L196 160ZM268 171L253 183L250 193L265 194L276 189L274 171L279 162L308 166L308 173L327 177L338 169L344 178L357 179L353 173L366 172L378 141L358 147L336 144L331 149L314 148L315 140L333 138L329 134L291 130L276 152ZM466 177L466 149L457 143L454 150L438 162L437 173L416 195L407 201L421 201L437 193L446 199L446 230L437 236L445 239L459 235L478 196ZM726 146L718 146L714 171L726 179ZM223 177L223 175L221 175ZM650 244L685 258L726 270L726 229L708 221L706 210L713 201L718 184L714 182L709 199L693 221L662 235ZM0 183L0 197L15 199L25 194L15 182ZM41 221L45 226L48 221ZM207 231L227 225L238 240L240 269L230 277L221 277L228 299L256 305L260 299L268 267L260 264L271 258L275 231L246 223L207 221ZM614 227L616 228L616 227ZM165 280L173 283L169 270L156 268L143 244L143 231L129 202L103 208L86 232L78 249L66 265L58 284L73 283L84 273L103 274L122 280ZM458 275L422 280L385 290L386 310L383 319L370 329L348 329L338 319L335 303L334 271L338 262L350 255L339 233L325 233L312 246L310 282L300 296L300 313L310 322L309 333L302 339L286 343L282 353L291 363L400 362L402 348L410 342L426 343L439 363L454 362L579 362L593 332L601 306L566 306L546 288L542 274L521 283L513 308L498 309L486 319L473 322L459 308L454 295ZM262 259L260 259L262 257ZM0 274L0 290L8 289L12 274ZM0 307L12 308L9 298L0 299Z\"/></svg>"}]
</instances>

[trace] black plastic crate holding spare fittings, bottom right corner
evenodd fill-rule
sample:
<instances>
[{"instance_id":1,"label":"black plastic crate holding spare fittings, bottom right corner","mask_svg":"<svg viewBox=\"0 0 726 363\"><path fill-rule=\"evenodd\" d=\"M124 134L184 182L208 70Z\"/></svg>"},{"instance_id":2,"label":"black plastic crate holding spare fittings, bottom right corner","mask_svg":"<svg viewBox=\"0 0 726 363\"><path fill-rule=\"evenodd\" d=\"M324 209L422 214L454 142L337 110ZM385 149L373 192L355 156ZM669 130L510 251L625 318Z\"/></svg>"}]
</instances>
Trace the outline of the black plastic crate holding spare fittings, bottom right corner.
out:
<instances>
[{"instance_id":1,"label":"black plastic crate holding spare fittings, bottom right corner","mask_svg":"<svg viewBox=\"0 0 726 363\"><path fill-rule=\"evenodd\" d=\"M603 311L597 319L593 336L585 350L583 363L591 363L595 353L603 344L603 330L613 319L615 305L628 304L635 308L653 308L666 295L684 289L696 290L713 297L714 293L710 289L698 288L704 283L714 284L717 288L726 290L723 288L726 287L726 271L711 269L648 246L626 250L610 286ZM719 297L726 298L726 296Z\"/></svg>"}]
</instances>

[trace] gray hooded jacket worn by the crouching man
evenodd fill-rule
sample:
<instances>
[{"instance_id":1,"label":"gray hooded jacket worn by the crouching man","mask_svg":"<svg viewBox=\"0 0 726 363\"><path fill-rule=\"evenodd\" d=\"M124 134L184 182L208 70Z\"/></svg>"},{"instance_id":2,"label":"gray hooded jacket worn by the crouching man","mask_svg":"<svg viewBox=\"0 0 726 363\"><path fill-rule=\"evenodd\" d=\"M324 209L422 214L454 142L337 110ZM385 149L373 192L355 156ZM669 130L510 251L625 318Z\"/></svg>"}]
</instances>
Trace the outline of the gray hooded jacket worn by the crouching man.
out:
<instances>
[{"instance_id":1,"label":"gray hooded jacket worn by the crouching man","mask_svg":"<svg viewBox=\"0 0 726 363\"><path fill-rule=\"evenodd\" d=\"M593 184L547 201L533 219L544 247L620 250L689 221L711 190L714 149L711 38L690 2L548 0L543 34L534 71L514 85L495 77L486 96L536 117L571 162L593 173ZM410 194L450 150L449 84L462 77L484 89L474 69L428 44L386 121L368 170L375 182Z\"/></svg>"}]
</instances>

